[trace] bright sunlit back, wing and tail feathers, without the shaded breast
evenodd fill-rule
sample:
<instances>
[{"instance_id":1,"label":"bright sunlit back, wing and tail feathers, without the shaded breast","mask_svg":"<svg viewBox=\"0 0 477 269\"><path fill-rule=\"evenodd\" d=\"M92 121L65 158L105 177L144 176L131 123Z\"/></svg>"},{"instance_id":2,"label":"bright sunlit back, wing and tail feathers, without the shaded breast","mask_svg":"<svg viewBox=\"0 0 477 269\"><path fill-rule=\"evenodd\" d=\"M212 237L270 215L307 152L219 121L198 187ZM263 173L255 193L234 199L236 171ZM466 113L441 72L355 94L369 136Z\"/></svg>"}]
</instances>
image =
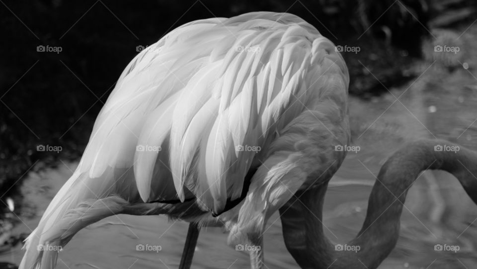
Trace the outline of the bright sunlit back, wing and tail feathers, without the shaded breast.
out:
<instances>
[{"instance_id":1,"label":"bright sunlit back, wing and tail feathers, without the shaded breast","mask_svg":"<svg viewBox=\"0 0 477 269\"><path fill-rule=\"evenodd\" d=\"M121 74L73 177L26 240L20 268L54 266L56 254L37 245L62 246L125 203L196 197L203 210L221 212L268 157L259 149L307 101L319 101L330 78L347 87L342 57L292 14L252 12L174 29ZM105 204L84 210L91 200Z\"/></svg>"}]
</instances>

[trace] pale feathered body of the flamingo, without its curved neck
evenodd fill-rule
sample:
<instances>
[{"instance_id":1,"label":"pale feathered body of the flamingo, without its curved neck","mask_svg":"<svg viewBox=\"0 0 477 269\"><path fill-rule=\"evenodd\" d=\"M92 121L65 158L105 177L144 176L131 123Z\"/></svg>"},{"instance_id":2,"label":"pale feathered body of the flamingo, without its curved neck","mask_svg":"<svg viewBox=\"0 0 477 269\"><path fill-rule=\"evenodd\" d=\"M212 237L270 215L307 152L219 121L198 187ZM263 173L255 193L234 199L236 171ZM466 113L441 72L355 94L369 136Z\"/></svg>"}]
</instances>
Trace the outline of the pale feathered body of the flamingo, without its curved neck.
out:
<instances>
[{"instance_id":1,"label":"pale feathered body of the flamingo, without its curved neck","mask_svg":"<svg viewBox=\"0 0 477 269\"><path fill-rule=\"evenodd\" d=\"M261 246L267 219L341 165L348 84L333 43L292 14L174 29L121 74L77 170L26 239L20 268L54 268L58 252L37 246L65 246L122 213L220 222L229 244ZM253 268L263 265L257 250Z\"/></svg>"}]
</instances>

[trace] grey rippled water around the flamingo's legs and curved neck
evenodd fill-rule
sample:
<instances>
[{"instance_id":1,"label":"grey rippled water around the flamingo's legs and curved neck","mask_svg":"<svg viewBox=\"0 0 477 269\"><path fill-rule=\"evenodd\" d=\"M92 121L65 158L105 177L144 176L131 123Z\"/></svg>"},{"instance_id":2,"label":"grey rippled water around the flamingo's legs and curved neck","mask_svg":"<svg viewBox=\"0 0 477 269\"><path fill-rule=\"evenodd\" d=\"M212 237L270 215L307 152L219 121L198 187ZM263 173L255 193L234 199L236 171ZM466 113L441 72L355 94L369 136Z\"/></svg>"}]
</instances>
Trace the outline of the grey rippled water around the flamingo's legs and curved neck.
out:
<instances>
[{"instance_id":1,"label":"grey rippled water around the flamingo's legs and curved neck","mask_svg":"<svg viewBox=\"0 0 477 269\"><path fill-rule=\"evenodd\" d=\"M422 72L427 66L423 63ZM404 141L443 138L477 150L477 81L466 70L445 80L441 73L431 68L416 83L390 89L392 93L350 99L351 144L360 151L348 153L326 194L323 222L332 242L344 244L357 234L375 176ZM22 213L12 215L18 220L13 235L36 227L76 165L64 163L28 175L21 188ZM410 189L405 206L397 247L380 268L477 268L477 205L456 179L444 172L424 173ZM177 268L186 232L187 223L164 216L112 216L81 230L61 252L58 268ZM223 229L203 229L193 268L248 268L248 254L226 241ZM138 244L160 251L136 251ZM457 245L460 250L434 251L436 244ZM264 249L268 268L298 268L285 249L278 214L268 222ZM18 264L22 255L16 246L1 253L0 261Z\"/></svg>"}]
</instances>

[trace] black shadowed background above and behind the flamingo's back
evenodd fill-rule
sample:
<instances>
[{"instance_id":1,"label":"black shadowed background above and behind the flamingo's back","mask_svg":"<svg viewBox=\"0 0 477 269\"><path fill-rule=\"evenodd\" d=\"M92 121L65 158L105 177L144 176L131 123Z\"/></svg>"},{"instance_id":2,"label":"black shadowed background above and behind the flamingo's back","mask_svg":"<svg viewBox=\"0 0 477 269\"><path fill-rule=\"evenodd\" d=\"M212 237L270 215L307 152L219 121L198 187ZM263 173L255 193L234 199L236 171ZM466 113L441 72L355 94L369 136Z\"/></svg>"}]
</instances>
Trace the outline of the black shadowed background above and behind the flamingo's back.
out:
<instances>
[{"instance_id":1,"label":"black shadowed background above and behind the flamingo's back","mask_svg":"<svg viewBox=\"0 0 477 269\"><path fill-rule=\"evenodd\" d=\"M469 25L476 14L472 0L0 2L2 201L15 196L17 182L32 167L78 159L96 115L138 53L137 46L150 45L185 22L259 10L299 15L335 44L361 47L361 53L344 57L350 93L369 98L415 78L407 66L421 57L428 27ZM38 52L39 45L62 51ZM63 150L38 152L38 145Z\"/></svg>"}]
</instances>

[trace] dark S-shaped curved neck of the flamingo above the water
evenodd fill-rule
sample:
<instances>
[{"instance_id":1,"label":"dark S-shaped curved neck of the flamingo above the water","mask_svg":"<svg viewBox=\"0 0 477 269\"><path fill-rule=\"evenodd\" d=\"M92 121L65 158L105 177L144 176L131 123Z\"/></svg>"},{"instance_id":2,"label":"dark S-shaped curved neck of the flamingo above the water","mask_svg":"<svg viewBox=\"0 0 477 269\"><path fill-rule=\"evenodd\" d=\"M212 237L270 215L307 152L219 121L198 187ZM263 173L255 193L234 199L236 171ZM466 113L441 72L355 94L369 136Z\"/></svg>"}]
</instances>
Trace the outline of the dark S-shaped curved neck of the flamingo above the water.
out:
<instances>
[{"instance_id":1,"label":"dark S-shaped curved neck of the flamingo above the water","mask_svg":"<svg viewBox=\"0 0 477 269\"><path fill-rule=\"evenodd\" d=\"M477 154L463 147L457 152L435 151L436 145L458 146L443 140L419 140L406 144L388 159L371 191L363 227L353 240L343 246L344 250L335 250L335 245L323 234L321 215L327 184L303 193L300 200L307 209L294 206L288 214L288 221L287 216L282 217L284 234L286 229L291 232L293 228L300 228L290 226L294 210L301 212L302 221L306 222L305 227L301 227L306 230L301 242L295 234L295 241L287 244L299 265L302 268L323 269L364 268L363 265L368 269L377 268L396 245L407 190L424 170L444 170L453 174L477 203ZM298 215L294 217L297 221ZM301 249L306 252L302 257L298 257L297 251L300 244L306 246ZM305 255L307 258L303 257Z\"/></svg>"}]
</instances>

